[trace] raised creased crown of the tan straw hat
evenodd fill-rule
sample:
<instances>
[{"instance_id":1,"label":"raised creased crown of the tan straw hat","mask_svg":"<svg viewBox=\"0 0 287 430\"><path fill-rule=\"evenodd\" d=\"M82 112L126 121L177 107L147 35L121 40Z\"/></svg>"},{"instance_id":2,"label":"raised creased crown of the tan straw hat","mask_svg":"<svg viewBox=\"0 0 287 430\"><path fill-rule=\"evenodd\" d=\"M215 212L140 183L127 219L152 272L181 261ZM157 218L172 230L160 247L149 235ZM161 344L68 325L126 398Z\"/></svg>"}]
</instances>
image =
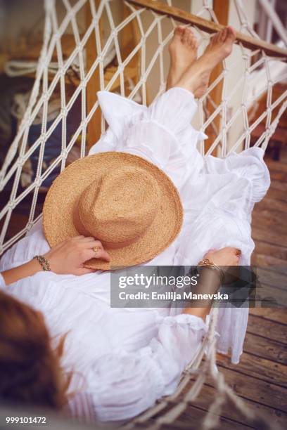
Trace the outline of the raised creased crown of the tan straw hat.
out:
<instances>
[{"instance_id":1,"label":"raised creased crown of the tan straw hat","mask_svg":"<svg viewBox=\"0 0 287 430\"><path fill-rule=\"evenodd\" d=\"M103 245L129 245L151 226L160 206L158 184L144 169L119 167L93 181L79 197L82 233Z\"/></svg>"}]
</instances>

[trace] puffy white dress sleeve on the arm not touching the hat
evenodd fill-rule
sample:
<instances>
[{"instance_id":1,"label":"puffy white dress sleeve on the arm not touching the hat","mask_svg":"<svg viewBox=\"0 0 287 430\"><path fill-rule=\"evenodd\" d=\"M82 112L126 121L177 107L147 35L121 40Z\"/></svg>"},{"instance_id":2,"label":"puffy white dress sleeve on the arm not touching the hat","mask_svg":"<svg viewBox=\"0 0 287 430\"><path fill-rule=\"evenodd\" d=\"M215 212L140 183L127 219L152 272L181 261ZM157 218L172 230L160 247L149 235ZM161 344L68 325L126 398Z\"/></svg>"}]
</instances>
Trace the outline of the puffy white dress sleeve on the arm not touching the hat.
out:
<instances>
[{"instance_id":1,"label":"puffy white dress sleeve on the arm not touching the hat","mask_svg":"<svg viewBox=\"0 0 287 430\"><path fill-rule=\"evenodd\" d=\"M98 419L134 417L174 392L205 330L203 320L193 315L160 318L158 336L148 346L135 352L114 351L96 360L87 382Z\"/></svg>"}]
</instances>

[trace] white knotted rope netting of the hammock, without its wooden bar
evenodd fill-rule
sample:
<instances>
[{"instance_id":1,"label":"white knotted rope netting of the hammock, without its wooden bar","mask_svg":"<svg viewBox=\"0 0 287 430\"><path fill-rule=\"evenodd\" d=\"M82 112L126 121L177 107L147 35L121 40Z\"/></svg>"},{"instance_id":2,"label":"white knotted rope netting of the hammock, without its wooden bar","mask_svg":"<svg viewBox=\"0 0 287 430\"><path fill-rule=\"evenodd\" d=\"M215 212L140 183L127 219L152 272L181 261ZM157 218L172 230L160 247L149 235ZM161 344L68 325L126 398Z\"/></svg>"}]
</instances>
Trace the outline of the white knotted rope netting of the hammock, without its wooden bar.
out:
<instances>
[{"instance_id":1,"label":"white knotted rope netting of the hammock, without its wooden bar","mask_svg":"<svg viewBox=\"0 0 287 430\"><path fill-rule=\"evenodd\" d=\"M70 152L79 145L80 156L86 155L86 141L87 141L87 125L92 120L94 113L99 109L98 101L91 107L90 112L87 112L87 85L89 79L98 70L99 82L101 90L110 90L115 82L119 82L117 91L123 96L126 96L126 91L129 89L129 98L139 101L139 94L141 94L141 102L146 104L146 92L149 87L151 79L155 78L153 72L156 63L159 64L158 71L158 88L156 89L155 96L165 91L165 55L167 45L172 38L172 31L175 26L173 19L168 18L166 15L157 15L154 12L146 12L144 8L135 8L129 2L125 4L128 6L130 15L121 22L117 22L114 16L113 1L101 0L98 8L95 7L94 0L77 0L70 3L69 0L62 0L66 13L63 20L58 24L58 15L56 10L56 2L54 0L44 0L45 5L45 24L44 24L44 41L42 51L37 65L35 63L18 63L13 62L6 65L6 70L10 73L20 73L19 68L25 68L25 72L35 71L34 86L30 96L18 97L18 108L14 110L17 117L23 117L20 120L18 133L15 136L11 148L4 161L4 165L0 172L0 189L4 190L8 183L11 184L10 199L7 204L0 211L0 220L3 222L1 235L0 235L0 254L13 243L23 237L27 230L29 230L33 223L39 219L39 215L35 216L37 208L37 201L41 186L44 181L49 179L55 169L63 170L66 165L67 157ZM238 13L238 20L240 22L240 29L249 32L253 37L258 38L252 26L248 22L245 15L243 4L241 0L234 0L236 11ZM177 6L175 0L167 0L170 6ZM91 11L91 22L88 23L84 34L79 34L77 16L79 13L85 15L85 8L89 7ZM146 14L148 13L148 20ZM198 11L198 16L208 18L212 21L218 22L215 12L212 9L212 2L203 0L202 7ZM106 34L106 40L101 41L99 22L105 17L106 27L110 27L109 34ZM122 58L122 51L120 46L120 35L125 27L132 21L136 22L139 30L139 43L131 49L127 58ZM117 24L115 24L117 22ZM167 32L167 24L170 25L170 31ZM70 56L64 58L63 46L61 38L68 27L72 30L72 36L75 38L75 48L72 49ZM196 32L200 48L206 46L210 39L210 35L193 27ZM96 42L96 50L98 55L87 70L87 59L85 56L87 41L93 37ZM146 49L149 39L156 38L156 43L151 46L151 56L148 57L148 50ZM205 151L205 143L202 141L199 144L202 154L208 155L215 148L219 148L219 154L225 157L229 152L249 148L251 133L260 122L265 122L265 130L262 136L257 139L256 146L261 146L263 149L267 147L267 143L272 134L276 130L279 119L287 107L287 91L285 91L277 100L272 99L272 89L276 82L284 79L286 72L282 68L281 74L272 74L274 64L282 65L276 58L268 58L259 49L255 51L248 51L242 45L235 46L234 49L238 50L238 55L234 60L224 61L222 73L217 77L215 82L210 84L207 93L198 101L198 128L200 131L206 131L208 126L212 128L217 134L215 141L212 143L209 150ZM56 51L57 60L51 61L53 53ZM106 66L113 60L113 74L109 75L107 79L106 72L109 70ZM138 72L139 79L137 82L131 77L126 77L125 72L129 67L129 62L135 57L139 58ZM256 61L254 58L256 56ZM252 62L253 60L253 62ZM276 63L277 62L277 63ZM229 89L229 77L236 74L239 67L243 68L241 77L237 80L236 84ZM266 75L266 82L260 87L256 87L257 91L252 93L249 91L248 84L250 84L250 76L258 69L264 70ZM111 69L110 69L111 70ZM77 82L76 86L71 86L71 93L68 98L66 92L67 83L66 79L70 77L71 71L76 72ZM21 70L23 72L23 70ZM217 84L222 83L222 100L219 105L215 105L211 98L212 89L215 89ZM53 94L58 91L58 104L53 106ZM253 121L251 115L248 113L250 103L255 103L267 91L267 105L266 110L262 115ZM230 114L231 102L236 94L241 94L238 108ZM249 96L249 93L251 96ZM29 99L28 101L27 98ZM80 98L81 112L79 124L72 136L68 138L67 119L72 110L75 102ZM23 108L24 104L25 110ZM55 109L53 109L55 107ZM274 109L277 109L276 115L272 116ZM210 110L210 112L208 112ZM215 124L216 117L219 116L219 128ZM231 128L237 124L238 120L242 120L241 132L238 133L236 141L229 145ZM252 122L253 121L253 122ZM28 142L28 135L31 131L32 125L41 124L41 132L39 137L34 141ZM53 159L53 162L43 169L45 145L49 141L51 135L55 132L57 126L61 125L61 136L59 141L60 151ZM218 124L217 124L218 125ZM238 127L240 129L240 127ZM105 122L102 118L101 131L105 131ZM38 163L35 173L35 179L26 188L20 190L20 178L23 174L23 167L30 162L32 155L37 151ZM6 238L11 216L15 210L27 197L31 197L32 203L30 214L26 226L22 228L13 237ZM155 405L154 408L144 412L143 415L134 419L131 423L127 424L127 428L132 428L136 425L143 425L148 419L153 418L153 428L160 428L164 424L170 424L177 420L180 415L186 410L188 405L193 402L199 395L205 379L210 375L217 386L218 395L215 401L210 406L208 414L203 422L204 429L212 429L219 421L219 414L222 410L222 405L229 398L238 410L245 415L246 419L253 421L255 416L250 408L248 408L243 401L235 395L235 393L224 382L224 377L217 371L215 362L215 327L217 324L217 309L212 311L208 334L203 341L200 351L195 356L193 363L186 367L182 375L181 382L177 391L167 398L163 398L160 403ZM200 366L203 356L206 353L205 362ZM200 366L200 368L199 368ZM192 379L196 378L195 382ZM192 382L192 383L191 383ZM158 417L160 414L160 417ZM147 424L144 424L147 427ZM267 428L268 427L268 424Z\"/></svg>"}]
</instances>

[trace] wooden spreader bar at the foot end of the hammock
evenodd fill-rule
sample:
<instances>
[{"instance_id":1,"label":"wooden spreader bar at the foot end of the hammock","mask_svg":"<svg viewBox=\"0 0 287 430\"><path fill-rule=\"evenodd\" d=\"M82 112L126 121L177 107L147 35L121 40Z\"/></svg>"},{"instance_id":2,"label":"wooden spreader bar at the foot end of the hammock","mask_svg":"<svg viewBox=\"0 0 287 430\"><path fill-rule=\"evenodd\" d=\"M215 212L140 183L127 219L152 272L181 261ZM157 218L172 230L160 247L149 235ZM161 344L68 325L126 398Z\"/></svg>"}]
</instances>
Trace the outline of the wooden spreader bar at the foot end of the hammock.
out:
<instances>
[{"instance_id":1,"label":"wooden spreader bar at the foot end of the hammock","mask_svg":"<svg viewBox=\"0 0 287 430\"><path fill-rule=\"evenodd\" d=\"M136 6L141 6L143 8L151 9L152 11L159 13L160 15L169 15L179 22L184 24L193 24L200 30L204 30L208 33L216 33L224 28L224 25L217 24L216 22L208 21L199 16L193 15L192 13L182 11L179 8L174 8L173 6L167 6L161 1L153 0L127 0ZM243 44L245 48L255 50L261 49L268 56L272 57L282 57L282 60L287 60L287 50L279 48L274 44L268 44L266 41L255 39L255 37L246 36L246 34L236 32L236 43Z\"/></svg>"}]
</instances>

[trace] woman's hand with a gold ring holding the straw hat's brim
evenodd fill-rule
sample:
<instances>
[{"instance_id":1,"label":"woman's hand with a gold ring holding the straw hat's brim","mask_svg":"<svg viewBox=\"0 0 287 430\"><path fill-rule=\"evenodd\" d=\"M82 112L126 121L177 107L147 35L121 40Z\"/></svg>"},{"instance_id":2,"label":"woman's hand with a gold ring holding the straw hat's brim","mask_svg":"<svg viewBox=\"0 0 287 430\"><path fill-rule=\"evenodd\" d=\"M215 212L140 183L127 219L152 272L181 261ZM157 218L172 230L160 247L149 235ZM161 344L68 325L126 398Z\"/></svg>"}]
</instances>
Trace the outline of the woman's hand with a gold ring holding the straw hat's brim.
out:
<instances>
[{"instance_id":1,"label":"woman's hand with a gold ring holding the straw hat's brim","mask_svg":"<svg viewBox=\"0 0 287 430\"><path fill-rule=\"evenodd\" d=\"M97 254L94 252L94 247L99 248ZM110 261L108 252L103 249L99 240L84 236L64 240L44 256L50 261L51 271L58 275L85 275L94 272L94 269L85 268L84 262L95 256Z\"/></svg>"}]
</instances>

